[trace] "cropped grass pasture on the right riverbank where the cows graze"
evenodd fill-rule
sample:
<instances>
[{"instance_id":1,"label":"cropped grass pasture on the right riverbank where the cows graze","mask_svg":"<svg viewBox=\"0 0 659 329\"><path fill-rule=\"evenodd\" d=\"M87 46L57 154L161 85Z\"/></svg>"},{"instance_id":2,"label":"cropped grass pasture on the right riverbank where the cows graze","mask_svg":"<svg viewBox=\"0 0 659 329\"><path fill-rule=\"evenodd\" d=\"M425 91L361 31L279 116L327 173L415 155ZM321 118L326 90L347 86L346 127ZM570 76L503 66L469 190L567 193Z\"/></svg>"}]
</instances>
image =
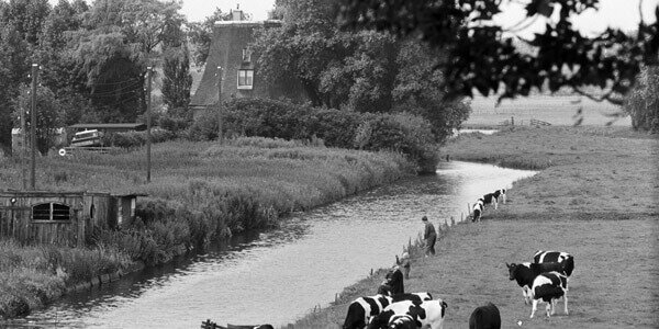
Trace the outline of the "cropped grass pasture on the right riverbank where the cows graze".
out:
<instances>
[{"instance_id":1,"label":"cropped grass pasture on the right riverbank where the cows graze","mask_svg":"<svg viewBox=\"0 0 659 329\"><path fill-rule=\"evenodd\" d=\"M657 328L659 326L659 143L610 127L515 127L493 136L463 135L444 154L453 159L541 170L521 180L499 211L480 224L457 225L438 241L438 256L415 259L405 291L445 299L445 328L467 328L479 305L499 306L503 328ZM538 249L576 258L569 310L528 319L506 262L532 260ZM372 295L382 274L346 288L338 303L295 328L343 324L350 300ZM544 309L544 308L543 308Z\"/></svg>"}]
</instances>

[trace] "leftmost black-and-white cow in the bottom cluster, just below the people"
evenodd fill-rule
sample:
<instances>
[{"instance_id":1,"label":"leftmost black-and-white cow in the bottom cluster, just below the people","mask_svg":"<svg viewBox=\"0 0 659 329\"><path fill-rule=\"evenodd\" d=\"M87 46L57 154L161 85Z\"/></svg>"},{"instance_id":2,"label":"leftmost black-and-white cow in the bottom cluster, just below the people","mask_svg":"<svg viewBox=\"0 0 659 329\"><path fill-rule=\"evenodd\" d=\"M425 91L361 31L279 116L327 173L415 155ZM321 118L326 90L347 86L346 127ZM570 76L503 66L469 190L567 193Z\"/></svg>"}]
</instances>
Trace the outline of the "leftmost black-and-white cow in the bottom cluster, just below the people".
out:
<instances>
[{"instance_id":1,"label":"leftmost black-and-white cow in the bottom cluster, just below the people","mask_svg":"<svg viewBox=\"0 0 659 329\"><path fill-rule=\"evenodd\" d=\"M359 297L348 306L348 314L344 321L344 329L362 329L369 322L370 318L379 315L387 306L402 300L423 302L431 300L433 296L429 293L398 294L395 296L375 295Z\"/></svg>"}]
</instances>

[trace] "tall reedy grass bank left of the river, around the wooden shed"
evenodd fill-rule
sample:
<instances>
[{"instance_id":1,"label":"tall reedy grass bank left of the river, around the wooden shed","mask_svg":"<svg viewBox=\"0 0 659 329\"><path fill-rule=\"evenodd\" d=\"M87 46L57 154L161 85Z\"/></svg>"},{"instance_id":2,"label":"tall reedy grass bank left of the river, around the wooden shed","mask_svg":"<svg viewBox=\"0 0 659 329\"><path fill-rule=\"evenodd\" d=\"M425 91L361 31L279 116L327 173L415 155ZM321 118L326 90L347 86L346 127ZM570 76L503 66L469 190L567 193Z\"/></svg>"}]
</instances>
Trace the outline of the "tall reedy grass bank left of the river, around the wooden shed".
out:
<instances>
[{"instance_id":1,"label":"tall reedy grass bank left of the river, around the wooden shed","mask_svg":"<svg viewBox=\"0 0 659 329\"><path fill-rule=\"evenodd\" d=\"M277 225L292 211L413 170L400 155L266 138L239 138L224 146L157 144L152 162L152 182L146 183L143 150L38 159L37 189L146 193L138 209L156 218L129 232L101 235L96 247L85 250L0 240L0 318L24 315L92 276L126 270L136 261L167 261L181 247L194 248L231 231ZM20 178L18 160L0 161L1 189L19 189Z\"/></svg>"}]
</instances>

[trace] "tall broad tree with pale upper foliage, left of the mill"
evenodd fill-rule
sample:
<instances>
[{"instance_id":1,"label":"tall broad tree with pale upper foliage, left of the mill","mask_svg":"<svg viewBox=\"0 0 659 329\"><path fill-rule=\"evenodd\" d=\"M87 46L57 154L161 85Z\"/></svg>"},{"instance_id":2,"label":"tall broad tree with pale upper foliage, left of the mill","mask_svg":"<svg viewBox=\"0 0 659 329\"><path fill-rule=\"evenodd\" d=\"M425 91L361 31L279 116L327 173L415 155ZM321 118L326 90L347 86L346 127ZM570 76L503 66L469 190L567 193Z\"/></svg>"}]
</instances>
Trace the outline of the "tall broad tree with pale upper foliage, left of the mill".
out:
<instances>
[{"instance_id":1,"label":"tall broad tree with pale upper foliage, left of the mill","mask_svg":"<svg viewBox=\"0 0 659 329\"><path fill-rule=\"evenodd\" d=\"M160 64L167 26L182 22L177 1L98 0L86 16L88 32L77 57L87 73L97 118L135 121L146 109L147 66ZM180 23L179 23L180 24Z\"/></svg>"}]
</instances>

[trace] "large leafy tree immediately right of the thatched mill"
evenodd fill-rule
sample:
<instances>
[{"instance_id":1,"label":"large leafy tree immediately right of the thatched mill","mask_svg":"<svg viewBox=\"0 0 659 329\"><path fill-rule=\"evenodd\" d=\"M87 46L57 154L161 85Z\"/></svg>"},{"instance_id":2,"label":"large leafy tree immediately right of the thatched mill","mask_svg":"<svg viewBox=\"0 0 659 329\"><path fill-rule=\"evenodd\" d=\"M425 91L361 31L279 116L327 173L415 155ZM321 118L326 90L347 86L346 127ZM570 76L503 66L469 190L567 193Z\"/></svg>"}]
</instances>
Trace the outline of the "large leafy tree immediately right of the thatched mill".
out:
<instances>
[{"instance_id":1,"label":"large leafy tree immediately right of the thatched mill","mask_svg":"<svg viewBox=\"0 0 659 329\"><path fill-rule=\"evenodd\" d=\"M338 1L279 0L279 29L254 44L259 77L280 86L295 80L311 103L357 112L421 115L444 140L467 117L461 98L448 99L444 75L433 70L444 52L387 31L340 30Z\"/></svg>"}]
</instances>

